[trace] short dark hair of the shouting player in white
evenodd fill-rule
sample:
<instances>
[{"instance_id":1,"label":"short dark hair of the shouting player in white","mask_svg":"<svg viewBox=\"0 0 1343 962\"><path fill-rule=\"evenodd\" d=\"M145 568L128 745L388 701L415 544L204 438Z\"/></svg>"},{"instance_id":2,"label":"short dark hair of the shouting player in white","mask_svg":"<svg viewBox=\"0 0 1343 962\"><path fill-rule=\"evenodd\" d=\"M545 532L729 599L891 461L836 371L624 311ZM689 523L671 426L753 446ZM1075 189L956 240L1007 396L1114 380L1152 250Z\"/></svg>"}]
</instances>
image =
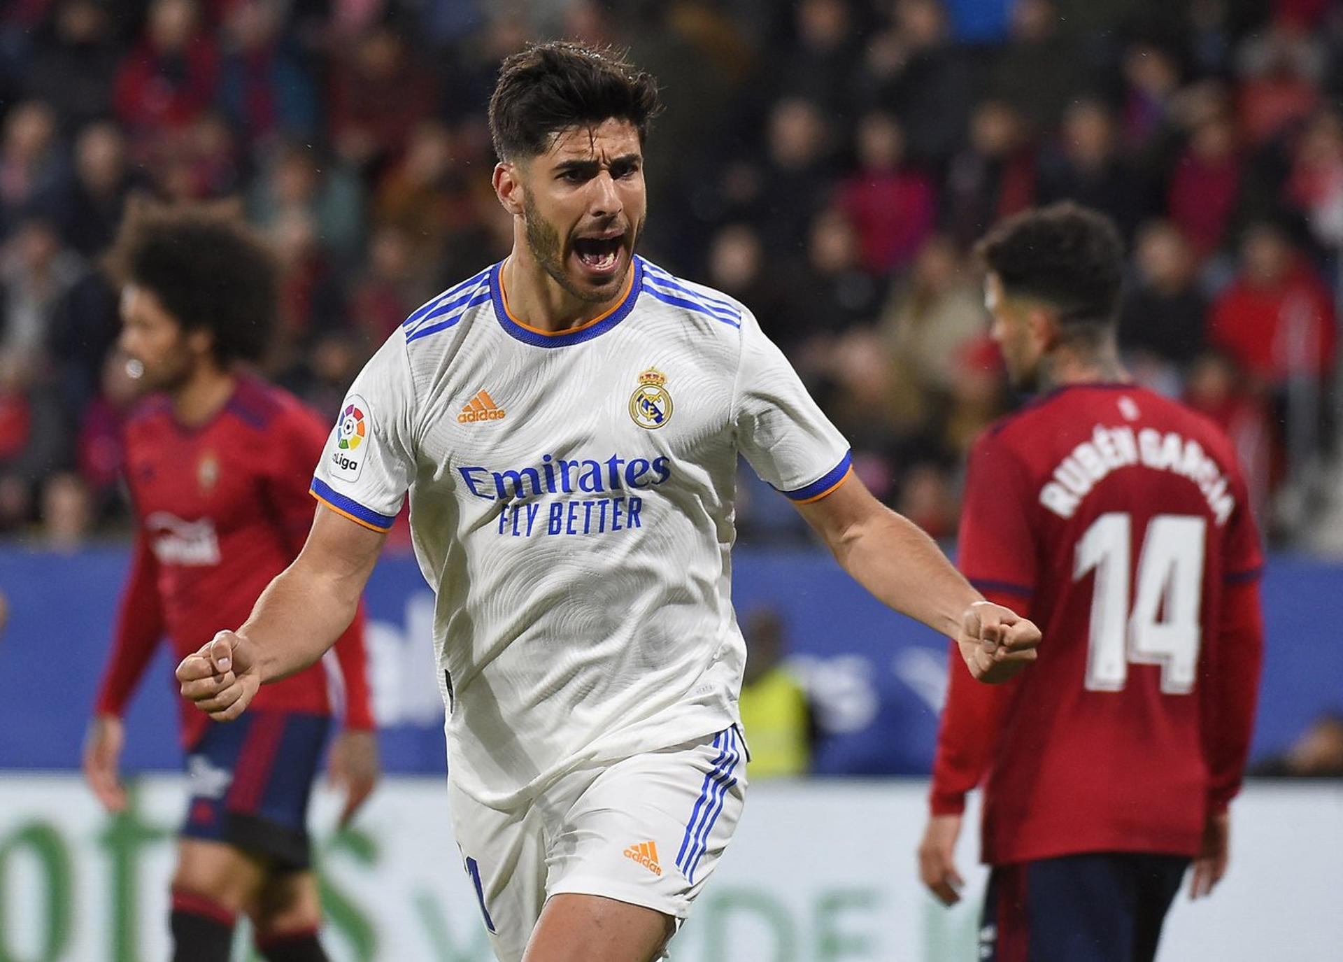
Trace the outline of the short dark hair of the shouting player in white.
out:
<instances>
[{"instance_id":1,"label":"short dark hair of the shouting player in white","mask_svg":"<svg viewBox=\"0 0 1343 962\"><path fill-rule=\"evenodd\" d=\"M504 60L490 97L490 137L500 160L545 153L560 130L626 120L647 137L662 110L651 74L620 51L553 40Z\"/></svg>"}]
</instances>

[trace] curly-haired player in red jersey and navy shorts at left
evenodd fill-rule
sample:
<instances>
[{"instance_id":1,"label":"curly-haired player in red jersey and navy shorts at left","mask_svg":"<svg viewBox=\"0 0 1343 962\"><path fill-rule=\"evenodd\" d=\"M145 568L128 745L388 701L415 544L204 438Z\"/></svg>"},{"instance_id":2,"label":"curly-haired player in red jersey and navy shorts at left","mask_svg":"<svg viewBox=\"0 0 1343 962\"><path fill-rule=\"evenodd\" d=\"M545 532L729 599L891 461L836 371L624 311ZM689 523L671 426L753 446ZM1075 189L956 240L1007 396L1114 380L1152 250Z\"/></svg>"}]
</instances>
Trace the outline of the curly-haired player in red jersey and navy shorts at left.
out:
<instances>
[{"instance_id":1,"label":"curly-haired player in red jersey and navy shorts at left","mask_svg":"<svg viewBox=\"0 0 1343 962\"><path fill-rule=\"evenodd\" d=\"M238 365L261 355L277 310L277 269L239 224L199 210L134 212L114 247L122 274L121 347L156 391L126 427L136 548L115 642L85 750L85 774L118 812L121 713L163 636L179 658L220 619L240 621L294 560L312 524L312 462L325 425ZM377 779L363 618L353 599L336 641L345 731L330 774L353 816ZM294 633L306 626L294 625ZM191 801L172 881L177 962L228 958L246 912L271 962L325 959L305 830L326 744L332 696L324 666L262 692L240 724L184 705Z\"/></svg>"}]
</instances>

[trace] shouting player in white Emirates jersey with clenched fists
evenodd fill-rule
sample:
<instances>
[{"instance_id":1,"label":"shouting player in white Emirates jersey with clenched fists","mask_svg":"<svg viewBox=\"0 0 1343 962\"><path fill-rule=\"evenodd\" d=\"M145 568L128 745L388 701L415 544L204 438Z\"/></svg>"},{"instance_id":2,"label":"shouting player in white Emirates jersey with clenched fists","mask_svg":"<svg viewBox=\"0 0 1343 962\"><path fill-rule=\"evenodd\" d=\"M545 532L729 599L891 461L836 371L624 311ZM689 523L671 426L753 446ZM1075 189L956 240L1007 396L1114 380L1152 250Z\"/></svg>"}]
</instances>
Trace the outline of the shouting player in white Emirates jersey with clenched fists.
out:
<instances>
[{"instance_id":1,"label":"shouting player in white Emirates jersey with clenched fists","mask_svg":"<svg viewBox=\"0 0 1343 962\"><path fill-rule=\"evenodd\" d=\"M635 255L657 106L653 78L610 51L504 62L490 125L512 254L375 355L298 560L177 669L185 697L231 719L320 657L410 492L438 594L453 826L505 962L659 955L732 837L739 453L978 677L1021 670L1038 641L868 493L751 312Z\"/></svg>"}]
</instances>

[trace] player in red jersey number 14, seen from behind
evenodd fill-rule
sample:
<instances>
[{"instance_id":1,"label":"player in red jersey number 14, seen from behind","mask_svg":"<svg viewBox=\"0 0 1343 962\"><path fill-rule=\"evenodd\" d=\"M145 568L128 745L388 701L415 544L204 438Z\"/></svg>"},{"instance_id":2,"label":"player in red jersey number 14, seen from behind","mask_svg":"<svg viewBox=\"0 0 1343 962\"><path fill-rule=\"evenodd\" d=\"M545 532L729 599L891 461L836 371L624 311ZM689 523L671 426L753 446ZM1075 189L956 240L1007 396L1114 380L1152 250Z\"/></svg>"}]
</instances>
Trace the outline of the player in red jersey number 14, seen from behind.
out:
<instances>
[{"instance_id":1,"label":"player in red jersey number 14, seen from behind","mask_svg":"<svg viewBox=\"0 0 1343 962\"><path fill-rule=\"evenodd\" d=\"M958 900L952 850L983 783L979 958L1151 959L1190 861L1194 898L1226 871L1262 652L1258 536L1222 433L1120 367L1113 224L1056 204L979 250L1007 372L1039 396L971 451L959 560L1049 644L1002 687L952 672L920 876Z\"/></svg>"}]
</instances>

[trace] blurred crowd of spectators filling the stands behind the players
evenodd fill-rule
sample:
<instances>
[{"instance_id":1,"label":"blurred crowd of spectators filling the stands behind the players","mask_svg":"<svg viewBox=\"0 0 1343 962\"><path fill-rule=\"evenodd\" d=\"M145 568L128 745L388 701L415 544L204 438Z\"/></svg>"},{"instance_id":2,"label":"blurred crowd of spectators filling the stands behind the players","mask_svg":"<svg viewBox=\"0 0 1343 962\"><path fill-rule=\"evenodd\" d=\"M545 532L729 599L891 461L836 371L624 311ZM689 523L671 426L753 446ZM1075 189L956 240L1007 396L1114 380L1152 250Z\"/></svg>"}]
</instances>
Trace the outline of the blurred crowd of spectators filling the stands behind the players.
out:
<instances>
[{"instance_id":1,"label":"blurred crowd of spectators filling the stands behind the players","mask_svg":"<svg viewBox=\"0 0 1343 962\"><path fill-rule=\"evenodd\" d=\"M406 314L506 254L485 105L500 59L552 36L659 78L642 251L747 304L935 535L967 445L1019 403L970 247L1064 198L1129 243L1135 375L1230 431L1275 540L1328 527L1334 0L9 0L0 531L125 523L136 386L101 259L128 199L236 204L270 236L267 374L333 414ZM740 527L804 537L748 474Z\"/></svg>"}]
</instances>

